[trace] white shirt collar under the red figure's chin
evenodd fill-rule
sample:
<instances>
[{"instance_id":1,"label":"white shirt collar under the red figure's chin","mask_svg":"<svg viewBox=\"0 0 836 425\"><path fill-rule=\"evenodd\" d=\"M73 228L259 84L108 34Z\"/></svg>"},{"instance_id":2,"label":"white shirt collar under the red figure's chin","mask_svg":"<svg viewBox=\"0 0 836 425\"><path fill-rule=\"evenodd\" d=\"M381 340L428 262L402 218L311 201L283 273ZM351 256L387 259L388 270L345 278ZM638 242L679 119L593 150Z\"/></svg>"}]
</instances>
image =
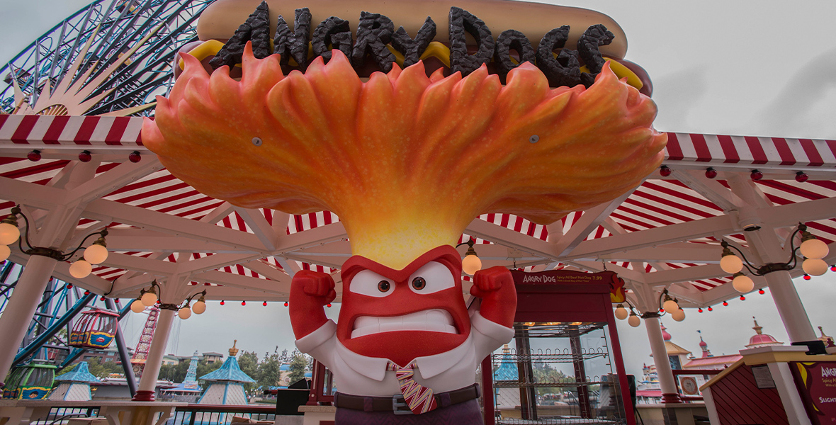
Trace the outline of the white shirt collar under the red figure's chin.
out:
<instances>
[{"instance_id":1,"label":"white shirt collar under the red figure's chin","mask_svg":"<svg viewBox=\"0 0 836 425\"><path fill-rule=\"evenodd\" d=\"M452 366L455 366L461 358L467 354L469 347L472 346L471 339L473 332L467 335L467 339L456 348L439 353L433 356L416 357L415 365L418 366L418 371L421 378L429 379L441 372L447 371ZM350 351L343 346L339 340L336 341L337 354L345 361L345 364L360 375L366 376L375 381L383 381L386 375L386 365L389 359L385 357L368 357L362 356L354 351Z\"/></svg>"}]
</instances>

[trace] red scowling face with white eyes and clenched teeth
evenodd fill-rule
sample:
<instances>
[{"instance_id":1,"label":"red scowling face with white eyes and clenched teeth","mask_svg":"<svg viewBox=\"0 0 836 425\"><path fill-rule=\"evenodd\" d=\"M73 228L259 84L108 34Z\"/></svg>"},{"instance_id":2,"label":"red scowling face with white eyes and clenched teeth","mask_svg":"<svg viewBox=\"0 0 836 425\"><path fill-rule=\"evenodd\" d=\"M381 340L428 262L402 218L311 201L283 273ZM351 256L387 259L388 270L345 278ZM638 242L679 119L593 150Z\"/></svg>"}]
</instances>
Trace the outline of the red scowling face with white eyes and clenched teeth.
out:
<instances>
[{"instance_id":1,"label":"red scowling face with white eyes and clenched teeth","mask_svg":"<svg viewBox=\"0 0 836 425\"><path fill-rule=\"evenodd\" d=\"M461 292L461 258L433 248L404 269L354 256L342 271L337 338L350 351L405 366L461 345L471 324Z\"/></svg>"}]
</instances>

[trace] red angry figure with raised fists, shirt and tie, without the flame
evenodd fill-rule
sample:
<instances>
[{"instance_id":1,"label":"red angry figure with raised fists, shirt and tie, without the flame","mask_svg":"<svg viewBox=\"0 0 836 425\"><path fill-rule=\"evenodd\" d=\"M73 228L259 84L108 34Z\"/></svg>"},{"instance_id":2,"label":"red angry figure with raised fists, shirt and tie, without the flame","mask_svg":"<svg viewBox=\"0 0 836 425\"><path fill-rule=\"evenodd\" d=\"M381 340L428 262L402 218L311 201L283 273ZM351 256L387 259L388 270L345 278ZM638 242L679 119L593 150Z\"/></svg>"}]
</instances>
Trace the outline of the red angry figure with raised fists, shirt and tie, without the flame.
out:
<instances>
[{"instance_id":1,"label":"red angry figure with raised fists, shirt and tie, without the flame","mask_svg":"<svg viewBox=\"0 0 836 425\"><path fill-rule=\"evenodd\" d=\"M461 258L449 245L400 270L355 255L341 276L337 324L323 308L336 296L328 274L300 271L290 290L296 346L339 382L337 423L482 423L476 371L513 336L511 273L477 272L471 294L481 305L471 312L461 296Z\"/></svg>"}]
</instances>

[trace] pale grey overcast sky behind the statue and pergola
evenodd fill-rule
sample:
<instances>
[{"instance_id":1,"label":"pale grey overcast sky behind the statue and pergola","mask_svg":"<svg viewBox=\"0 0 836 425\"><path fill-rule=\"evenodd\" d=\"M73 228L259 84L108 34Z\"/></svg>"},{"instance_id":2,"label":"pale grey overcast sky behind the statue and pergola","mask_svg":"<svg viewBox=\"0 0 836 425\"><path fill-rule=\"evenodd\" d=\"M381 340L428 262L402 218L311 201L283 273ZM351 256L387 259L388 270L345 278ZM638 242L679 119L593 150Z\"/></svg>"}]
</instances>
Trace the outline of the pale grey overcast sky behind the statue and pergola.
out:
<instances>
[{"instance_id":1,"label":"pale grey overcast sky behind the statue and pergola","mask_svg":"<svg viewBox=\"0 0 836 425\"><path fill-rule=\"evenodd\" d=\"M84 0L0 0L0 60L32 43L63 18L84 6ZM546 2L551 3L551 2ZM736 1L568 1L560 4L591 8L614 18L627 34L626 59L640 64L654 84L659 105L655 126L677 131L742 136L836 139L836 2ZM349 17L343 17L349 18ZM350 18L349 18L350 19ZM490 23L487 23L490 26ZM796 287L813 326L836 335L832 304L836 274L828 272ZM210 303L204 315L176 320L169 351L227 352L232 340L245 351L293 350L287 308L281 304ZM336 319L339 305L328 309ZM699 356L699 337L711 351L731 354L754 335L752 316L765 333L779 341L788 337L767 294L698 314L687 310L681 323L663 319L673 341ZM126 320L129 345L139 337L142 316ZM644 326L620 322L619 337L630 373L641 375L650 363ZM817 330L818 335L818 330Z\"/></svg>"}]
</instances>

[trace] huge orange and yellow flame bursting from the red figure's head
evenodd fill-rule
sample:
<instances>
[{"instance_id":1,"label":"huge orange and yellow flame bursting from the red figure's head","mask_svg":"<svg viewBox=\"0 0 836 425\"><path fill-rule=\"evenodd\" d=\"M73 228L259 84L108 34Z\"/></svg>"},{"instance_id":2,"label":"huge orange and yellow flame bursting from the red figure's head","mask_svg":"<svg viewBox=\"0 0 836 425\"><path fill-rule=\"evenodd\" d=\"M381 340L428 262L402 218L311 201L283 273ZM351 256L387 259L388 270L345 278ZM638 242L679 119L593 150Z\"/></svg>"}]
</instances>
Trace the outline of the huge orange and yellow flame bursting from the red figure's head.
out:
<instances>
[{"instance_id":1,"label":"huge orange and yellow flame bursting from the red figure's head","mask_svg":"<svg viewBox=\"0 0 836 425\"><path fill-rule=\"evenodd\" d=\"M585 90L551 89L528 63L503 86L484 66L427 77L420 63L364 82L337 50L285 77L247 46L240 81L183 59L142 128L172 174L240 207L333 211L355 254L395 269L482 213L552 223L619 197L666 142L653 101L609 65Z\"/></svg>"}]
</instances>

